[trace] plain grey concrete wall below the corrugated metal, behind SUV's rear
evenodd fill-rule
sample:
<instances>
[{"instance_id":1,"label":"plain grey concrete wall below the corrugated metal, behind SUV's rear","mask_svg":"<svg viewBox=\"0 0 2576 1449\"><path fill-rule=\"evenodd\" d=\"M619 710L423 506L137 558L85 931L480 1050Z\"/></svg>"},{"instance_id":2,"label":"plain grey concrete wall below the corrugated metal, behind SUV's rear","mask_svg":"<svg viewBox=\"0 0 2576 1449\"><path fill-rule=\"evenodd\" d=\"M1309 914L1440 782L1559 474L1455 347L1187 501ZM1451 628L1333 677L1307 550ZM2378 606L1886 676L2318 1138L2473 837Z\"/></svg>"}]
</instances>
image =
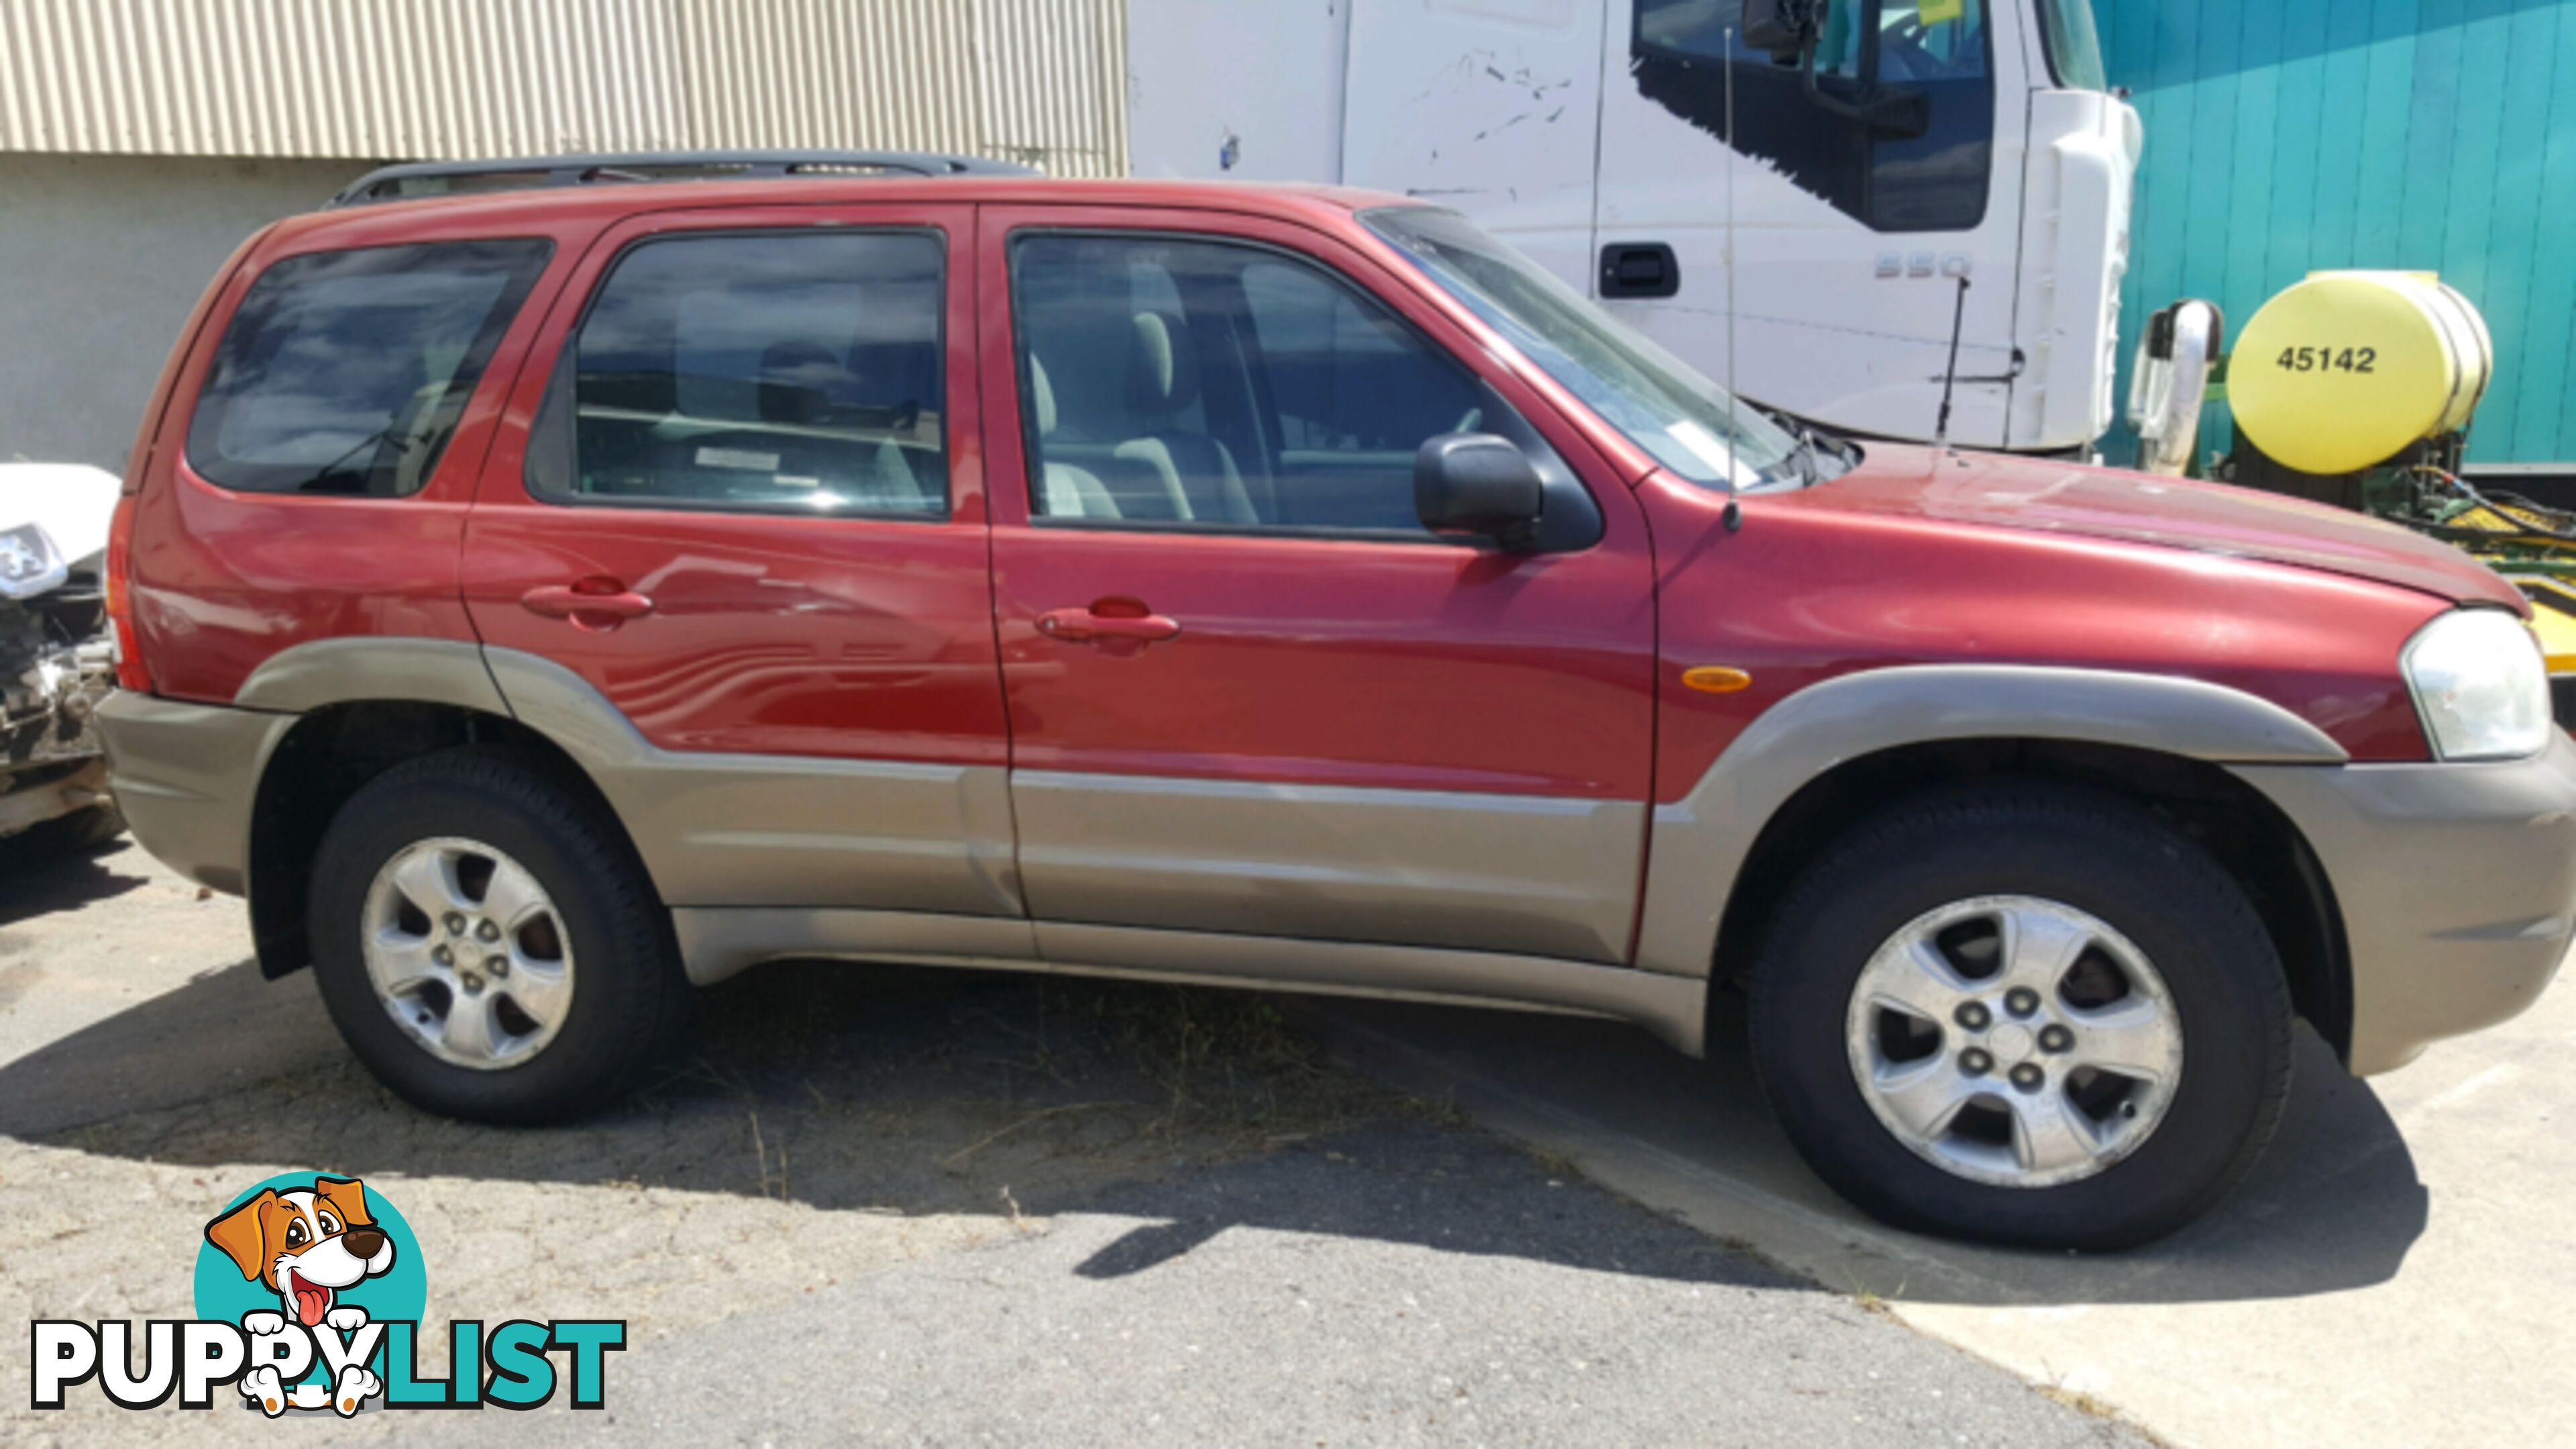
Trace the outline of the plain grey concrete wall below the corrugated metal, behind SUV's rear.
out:
<instances>
[{"instance_id":1,"label":"plain grey concrete wall below the corrugated metal, behind SUV's rear","mask_svg":"<svg viewBox=\"0 0 2576 1449\"><path fill-rule=\"evenodd\" d=\"M0 459L121 472L214 268L368 165L0 152Z\"/></svg>"}]
</instances>

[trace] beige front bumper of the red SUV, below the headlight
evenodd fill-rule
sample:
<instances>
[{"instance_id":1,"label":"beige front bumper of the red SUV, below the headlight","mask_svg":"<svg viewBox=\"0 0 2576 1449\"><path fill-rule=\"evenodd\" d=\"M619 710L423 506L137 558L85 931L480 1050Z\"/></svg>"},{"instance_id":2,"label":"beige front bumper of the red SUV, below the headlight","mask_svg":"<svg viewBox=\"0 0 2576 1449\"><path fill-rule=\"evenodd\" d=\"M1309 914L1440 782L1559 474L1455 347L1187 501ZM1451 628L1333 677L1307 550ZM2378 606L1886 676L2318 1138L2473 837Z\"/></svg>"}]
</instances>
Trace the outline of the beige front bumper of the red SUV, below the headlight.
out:
<instances>
[{"instance_id":1,"label":"beige front bumper of the red SUV, below the headlight","mask_svg":"<svg viewBox=\"0 0 2576 1449\"><path fill-rule=\"evenodd\" d=\"M2576 745L2530 761L2236 766L2344 915L2354 1075L2532 1006L2576 936Z\"/></svg>"}]
</instances>

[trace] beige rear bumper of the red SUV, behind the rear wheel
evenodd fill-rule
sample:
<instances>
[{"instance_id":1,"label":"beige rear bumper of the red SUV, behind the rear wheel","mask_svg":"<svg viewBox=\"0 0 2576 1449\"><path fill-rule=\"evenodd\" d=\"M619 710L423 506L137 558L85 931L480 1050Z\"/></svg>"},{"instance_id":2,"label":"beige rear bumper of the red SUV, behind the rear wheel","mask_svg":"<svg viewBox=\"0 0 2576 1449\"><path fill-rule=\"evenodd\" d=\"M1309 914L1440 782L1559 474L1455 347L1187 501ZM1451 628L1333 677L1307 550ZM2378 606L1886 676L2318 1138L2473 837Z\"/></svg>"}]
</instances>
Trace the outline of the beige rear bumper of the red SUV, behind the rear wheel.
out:
<instances>
[{"instance_id":1,"label":"beige rear bumper of the red SUV, behind the rear wheel","mask_svg":"<svg viewBox=\"0 0 2576 1449\"><path fill-rule=\"evenodd\" d=\"M126 828L188 879L247 895L250 807L294 714L116 691L98 706Z\"/></svg>"}]
</instances>

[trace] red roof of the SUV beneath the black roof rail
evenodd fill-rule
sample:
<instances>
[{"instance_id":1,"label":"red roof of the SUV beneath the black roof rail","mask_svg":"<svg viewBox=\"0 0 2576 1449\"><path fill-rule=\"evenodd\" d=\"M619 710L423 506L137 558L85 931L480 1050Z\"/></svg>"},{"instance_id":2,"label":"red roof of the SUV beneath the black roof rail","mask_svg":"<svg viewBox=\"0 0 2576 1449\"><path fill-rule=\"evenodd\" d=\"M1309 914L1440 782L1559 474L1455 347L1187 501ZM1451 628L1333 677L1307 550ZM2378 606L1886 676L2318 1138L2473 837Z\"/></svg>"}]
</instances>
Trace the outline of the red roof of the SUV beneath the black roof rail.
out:
<instances>
[{"instance_id":1,"label":"red roof of the SUV beneath the black roof rail","mask_svg":"<svg viewBox=\"0 0 2576 1449\"><path fill-rule=\"evenodd\" d=\"M649 211L732 206L835 206L835 204L958 204L958 206L1151 206L1239 211L1257 217L1337 222L1363 206L1404 206L1406 196L1314 183L1249 180L1136 180L1048 175L775 175L721 180L592 180L582 186L518 186L453 191L332 206L289 217L270 232L265 253L343 245L392 245L412 235L507 235L513 227L592 222L605 224Z\"/></svg>"}]
</instances>

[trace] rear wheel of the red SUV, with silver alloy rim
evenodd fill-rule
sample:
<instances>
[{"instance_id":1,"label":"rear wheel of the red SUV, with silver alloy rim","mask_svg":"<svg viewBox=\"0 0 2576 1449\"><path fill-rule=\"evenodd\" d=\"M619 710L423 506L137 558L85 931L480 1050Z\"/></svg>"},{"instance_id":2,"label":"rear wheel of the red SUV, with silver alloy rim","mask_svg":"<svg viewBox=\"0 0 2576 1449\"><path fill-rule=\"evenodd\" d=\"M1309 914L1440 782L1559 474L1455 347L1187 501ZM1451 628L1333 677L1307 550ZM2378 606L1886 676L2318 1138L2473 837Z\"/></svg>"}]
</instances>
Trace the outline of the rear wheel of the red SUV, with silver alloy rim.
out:
<instances>
[{"instance_id":1,"label":"rear wheel of the red SUV, with silver alloy rim","mask_svg":"<svg viewBox=\"0 0 2576 1449\"><path fill-rule=\"evenodd\" d=\"M497 750L376 776L314 859L322 1003L428 1111L562 1122L623 1096L688 1021L670 918L598 807Z\"/></svg>"}]
</instances>

